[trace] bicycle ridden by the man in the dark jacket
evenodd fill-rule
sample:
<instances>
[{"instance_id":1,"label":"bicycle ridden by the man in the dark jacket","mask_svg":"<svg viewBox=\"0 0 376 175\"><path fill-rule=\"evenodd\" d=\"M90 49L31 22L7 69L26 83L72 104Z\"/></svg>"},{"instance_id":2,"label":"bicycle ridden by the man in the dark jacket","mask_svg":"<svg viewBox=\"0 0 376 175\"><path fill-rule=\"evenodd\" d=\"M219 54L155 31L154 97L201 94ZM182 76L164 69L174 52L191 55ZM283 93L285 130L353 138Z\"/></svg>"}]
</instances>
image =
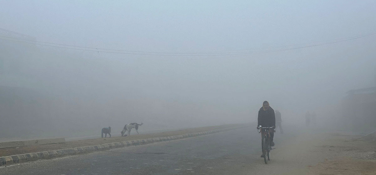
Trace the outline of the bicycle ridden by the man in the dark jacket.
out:
<instances>
[{"instance_id":1,"label":"bicycle ridden by the man in the dark jacket","mask_svg":"<svg viewBox=\"0 0 376 175\"><path fill-rule=\"evenodd\" d=\"M273 130L274 127L262 127L260 125L259 128L259 133L261 133L262 154L264 155L264 162L267 164L268 160L270 160L270 151L274 149L270 146L270 133L275 131Z\"/></svg>"}]
</instances>

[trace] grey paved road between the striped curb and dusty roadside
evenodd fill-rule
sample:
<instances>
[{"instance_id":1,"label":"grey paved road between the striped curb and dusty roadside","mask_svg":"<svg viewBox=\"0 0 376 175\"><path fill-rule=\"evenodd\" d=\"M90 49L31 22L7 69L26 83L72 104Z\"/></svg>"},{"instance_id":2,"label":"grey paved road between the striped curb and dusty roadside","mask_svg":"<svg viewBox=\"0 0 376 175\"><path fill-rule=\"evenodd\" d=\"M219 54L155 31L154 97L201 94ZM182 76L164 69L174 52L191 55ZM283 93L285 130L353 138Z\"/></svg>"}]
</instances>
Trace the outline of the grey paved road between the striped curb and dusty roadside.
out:
<instances>
[{"instance_id":1,"label":"grey paved road between the striped curb and dusty roadside","mask_svg":"<svg viewBox=\"0 0 376 175\"><path fill-rule=\"evenodd\" d=\"M276 146L282 137L276 133ZM0 168L2 175L248 174L263 164L254 127Z\"/></svg>"}]
</instances>

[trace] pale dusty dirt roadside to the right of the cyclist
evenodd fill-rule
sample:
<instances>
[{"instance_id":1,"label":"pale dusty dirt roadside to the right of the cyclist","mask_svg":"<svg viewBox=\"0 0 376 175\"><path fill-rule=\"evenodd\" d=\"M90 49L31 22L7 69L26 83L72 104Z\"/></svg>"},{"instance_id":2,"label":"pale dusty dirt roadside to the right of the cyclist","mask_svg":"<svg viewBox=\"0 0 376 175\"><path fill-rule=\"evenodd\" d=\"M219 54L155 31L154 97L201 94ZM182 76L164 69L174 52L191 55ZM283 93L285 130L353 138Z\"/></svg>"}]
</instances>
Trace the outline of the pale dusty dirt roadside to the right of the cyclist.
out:
<instances>
[{"instance_id":1,"label":"pale dusty dirt roadside to the right of the cyclist","mask_svg":"<svg viewBox=\"0 0 376 175\"><path fill-rule=\"evenodd\" d=\"M254 172L285 175L375 175L376 141L341 133L310 133L284 141ZM267 166L267 170L265 170Z\"/></svg>"}]
</instances>

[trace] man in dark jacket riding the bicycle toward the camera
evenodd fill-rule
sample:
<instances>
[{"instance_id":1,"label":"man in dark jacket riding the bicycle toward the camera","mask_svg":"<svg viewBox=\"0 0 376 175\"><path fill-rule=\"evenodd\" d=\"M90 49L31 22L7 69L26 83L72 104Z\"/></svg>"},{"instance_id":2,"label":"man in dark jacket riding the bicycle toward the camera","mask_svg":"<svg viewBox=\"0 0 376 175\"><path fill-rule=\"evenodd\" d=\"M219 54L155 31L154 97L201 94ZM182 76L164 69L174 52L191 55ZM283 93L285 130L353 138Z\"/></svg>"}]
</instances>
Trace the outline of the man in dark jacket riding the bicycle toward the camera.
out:
<instances>
[{"instance_id":1,"label":"man in dark jacket riding the bicycle toward the camera","mask_svg":"<svg viewBox=\"0 0 376 175\"><path fill-rule=\"evenodd\" d=\"M262 107L259 110L258 118L257 118L257 129L260 129L259 126L262 127L276 127L276 116L274 114L273 108L270 107L268 101L264 101L262 103ZM274 147L274 132L270 133L270 146ZM264 154L261 157L265 156Z\"/></svg>"}]
</instances>

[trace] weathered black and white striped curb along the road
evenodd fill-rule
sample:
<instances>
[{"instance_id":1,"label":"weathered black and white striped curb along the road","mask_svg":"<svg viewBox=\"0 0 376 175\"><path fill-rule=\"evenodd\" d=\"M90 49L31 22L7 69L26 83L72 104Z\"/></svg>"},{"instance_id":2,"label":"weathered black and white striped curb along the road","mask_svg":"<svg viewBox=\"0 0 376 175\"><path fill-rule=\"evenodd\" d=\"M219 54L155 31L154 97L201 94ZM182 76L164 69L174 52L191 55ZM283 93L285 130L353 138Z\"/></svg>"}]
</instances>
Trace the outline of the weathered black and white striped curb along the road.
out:
<instances>
[{"instance_id":1,"label":"weathered black and white striped curb along the road","mask_svg":"<svg viewBox=\"0 0 376 175\"><path fill-rule=\"evenodd\" d=\"M53 151L43 151L39 153L27 153L27 154L18 154L14 156L4 156L4 157L0 157L0 166L12 165L15 163L24 163L24 162L35 161L39 159L53 159L56 157L70 156L74 154L91 153L94 151L104 151L104 150L109 150L112 148L130 147L130 146L152 144L155 142L164 142L164 141L171 141L171 140L177 140L177 139L184 139L184 138L189 138L189 137L194 137L194 136L202 136L202 135L208 135L208 134L232 130L232 129L238 129L238 128L247 127L247 126L248 125L230 127L230 128L224 128L224 129L215 129L215 130L197 132L197 133L188 133L188 134L177 135L177 136L140 139L140 140L124 141L124 142L112 142L108 144L69 148L69 149L64 149L64 150L53 150Z\"/></svg>"}]
</instances>

